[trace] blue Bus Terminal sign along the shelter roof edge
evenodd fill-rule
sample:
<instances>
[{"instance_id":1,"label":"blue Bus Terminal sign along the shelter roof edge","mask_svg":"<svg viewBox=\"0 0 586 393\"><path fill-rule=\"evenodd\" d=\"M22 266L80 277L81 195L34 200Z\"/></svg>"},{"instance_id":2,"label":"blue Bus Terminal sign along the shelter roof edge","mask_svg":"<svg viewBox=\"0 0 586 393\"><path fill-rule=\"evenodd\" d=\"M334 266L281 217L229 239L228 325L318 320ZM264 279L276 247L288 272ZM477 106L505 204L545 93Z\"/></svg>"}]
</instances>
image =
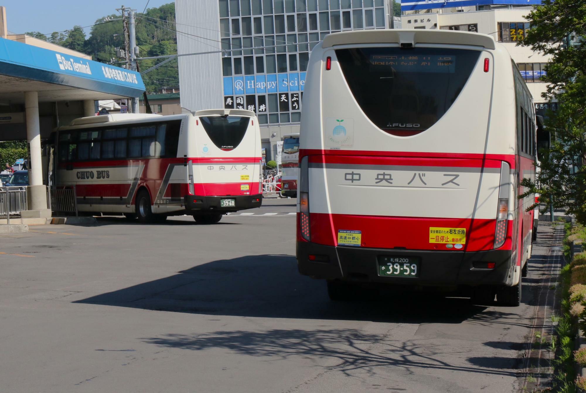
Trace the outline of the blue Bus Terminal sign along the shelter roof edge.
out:
<instances>
[{"instance_id":1,"label":"blue Bus Terminal sign along the shelter roof edge","mask_svg":"<svg viewBox=\"0 0 586 393\"><path fill-rule=\"evenodd\" d=\"M136 71L4 38L0 74L127 97L145 91Z\"/></svg>"}]
</instances>

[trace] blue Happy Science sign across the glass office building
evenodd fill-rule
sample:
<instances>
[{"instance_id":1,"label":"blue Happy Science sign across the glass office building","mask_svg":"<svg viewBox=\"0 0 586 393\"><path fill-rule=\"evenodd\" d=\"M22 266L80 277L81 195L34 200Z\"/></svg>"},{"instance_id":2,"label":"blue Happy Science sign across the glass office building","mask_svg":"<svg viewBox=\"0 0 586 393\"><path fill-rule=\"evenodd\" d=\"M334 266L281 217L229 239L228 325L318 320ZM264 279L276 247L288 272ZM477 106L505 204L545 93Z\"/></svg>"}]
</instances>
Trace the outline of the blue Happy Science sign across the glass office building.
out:
<instances>
[{"instance_id":1,"label":"blue Happy Science sign across the glass office building","mask_svg":"<svg viewBox=\"0 0 586 393\"><path fill-rule=\"evenodd\" d=\"M224 95L303 91L305 85L305 73L224 77L223 84Z\"/></svg>"}]
</instances>

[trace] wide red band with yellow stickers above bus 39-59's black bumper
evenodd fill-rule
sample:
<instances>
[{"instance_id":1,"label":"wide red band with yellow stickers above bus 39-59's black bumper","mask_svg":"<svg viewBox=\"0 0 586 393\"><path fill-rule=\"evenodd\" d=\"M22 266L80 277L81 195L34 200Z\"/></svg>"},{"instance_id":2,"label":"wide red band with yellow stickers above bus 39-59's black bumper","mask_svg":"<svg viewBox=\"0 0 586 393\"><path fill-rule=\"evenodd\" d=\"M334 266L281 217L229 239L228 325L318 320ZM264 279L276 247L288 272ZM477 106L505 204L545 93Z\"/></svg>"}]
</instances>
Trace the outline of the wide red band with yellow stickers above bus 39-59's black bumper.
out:
<instances>
[{"instance_id":1,"label":"wide red band with yellow stickers above bus 39-59's black bumper","mask_svg":"<svg viewBox=\"0 0 586 393\"><path fill-rule=\"evenodd\" d=\"M362 247L407 250L448 249L444 243L430 243L430 227L464 228L464 251L492 250L495 242L495 219L419 218L361 216L345 214L311 213L311 242L326 246L338 245L338 230L362 232ZM507 225L507 238L500 249L512 248L513 221Z\"/></svg>"}]
</instances>

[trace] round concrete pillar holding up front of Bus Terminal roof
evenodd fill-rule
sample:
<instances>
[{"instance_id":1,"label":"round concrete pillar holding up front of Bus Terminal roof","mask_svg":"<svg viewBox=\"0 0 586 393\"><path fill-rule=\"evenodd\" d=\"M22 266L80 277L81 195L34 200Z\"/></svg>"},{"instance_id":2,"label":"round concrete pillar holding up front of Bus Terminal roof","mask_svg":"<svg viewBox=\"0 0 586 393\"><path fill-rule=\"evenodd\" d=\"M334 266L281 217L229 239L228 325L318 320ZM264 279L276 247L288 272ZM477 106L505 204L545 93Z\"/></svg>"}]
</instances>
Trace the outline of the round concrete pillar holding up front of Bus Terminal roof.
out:
<instances>
[{"instance_id":1,"label":"round concrete pillar holding up front of Bus Terminal roof","mask_svg":"<svg viewBox=\"0 0 586 393\"><path fill-rule=\"evenodd\" d=\"M29 143L30 162L28 211L22 212L22 218L49 218L47 209L47 187L43 185L43 168L40 155L39 93L25 92L26 140Z\"/></svg>"}]
</instances>

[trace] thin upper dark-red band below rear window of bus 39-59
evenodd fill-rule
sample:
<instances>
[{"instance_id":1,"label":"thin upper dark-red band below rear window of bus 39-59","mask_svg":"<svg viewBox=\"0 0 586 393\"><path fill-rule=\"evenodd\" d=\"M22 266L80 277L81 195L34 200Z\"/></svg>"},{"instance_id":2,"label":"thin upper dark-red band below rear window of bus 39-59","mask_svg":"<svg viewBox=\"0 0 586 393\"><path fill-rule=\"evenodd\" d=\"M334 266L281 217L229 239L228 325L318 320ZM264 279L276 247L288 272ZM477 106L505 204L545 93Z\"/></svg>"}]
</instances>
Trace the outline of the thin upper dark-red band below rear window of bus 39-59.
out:
<instances>
[{"instance_id":1,"label":"thin upper dark-red band below rear window of bus 39-59","mask_svg":"<svg viewBox=\"0 0 586 393\"><path fill-rule=\"evenodd\" d=\"M507 161L511 168L515 168L515 154L483 154L483 153L432 153L428 151L376 151L376 150L322 150L300 149L299 160L305 156L362 156L365 160L374 157L397 158L459 158L468 160L499 160ZM360 157L358 157L360 158ZM426 164L429 165L429 164Z\"/></svg>"}]
</instances>

